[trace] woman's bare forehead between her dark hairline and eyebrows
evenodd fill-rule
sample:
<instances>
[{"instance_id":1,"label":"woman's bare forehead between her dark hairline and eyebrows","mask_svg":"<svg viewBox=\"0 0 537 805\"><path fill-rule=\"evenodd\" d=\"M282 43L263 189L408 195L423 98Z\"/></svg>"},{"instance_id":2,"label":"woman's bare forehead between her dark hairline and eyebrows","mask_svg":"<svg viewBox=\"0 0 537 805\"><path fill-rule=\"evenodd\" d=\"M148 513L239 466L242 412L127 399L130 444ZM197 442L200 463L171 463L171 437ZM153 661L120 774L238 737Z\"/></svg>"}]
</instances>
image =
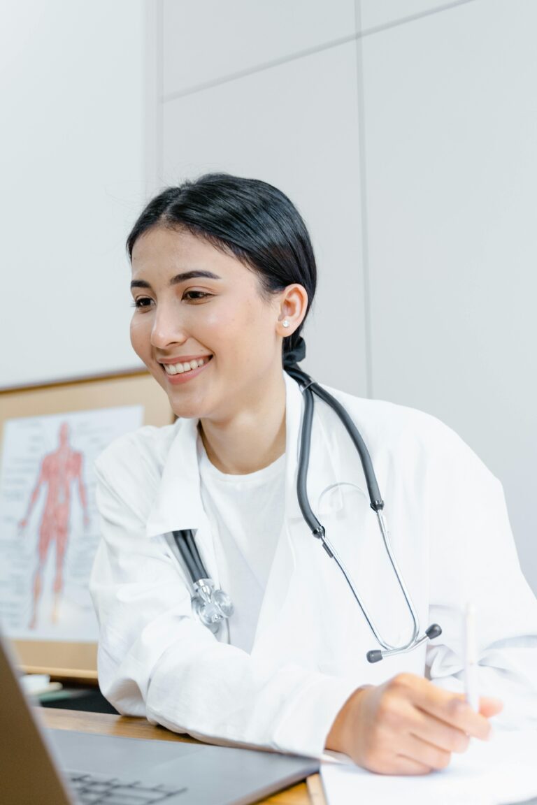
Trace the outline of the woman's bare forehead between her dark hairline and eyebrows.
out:
<instances>
[{"instance_id":1,"label":"woman's bare forehead between her dark hairline and eyebrows","mask_svg":"<svg viewBox=\"0 0 537 805\"><path fill-rule=\"evenodd\" d=\"M176 275L195 269L211 270L215 274L233 278L252 275L252 272L233 254L217 249L203 237L196 237L184 229L154 227L143 233L132 250L132 275L159 273Z\"/></svg>"}]
</instances>

